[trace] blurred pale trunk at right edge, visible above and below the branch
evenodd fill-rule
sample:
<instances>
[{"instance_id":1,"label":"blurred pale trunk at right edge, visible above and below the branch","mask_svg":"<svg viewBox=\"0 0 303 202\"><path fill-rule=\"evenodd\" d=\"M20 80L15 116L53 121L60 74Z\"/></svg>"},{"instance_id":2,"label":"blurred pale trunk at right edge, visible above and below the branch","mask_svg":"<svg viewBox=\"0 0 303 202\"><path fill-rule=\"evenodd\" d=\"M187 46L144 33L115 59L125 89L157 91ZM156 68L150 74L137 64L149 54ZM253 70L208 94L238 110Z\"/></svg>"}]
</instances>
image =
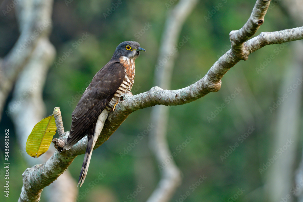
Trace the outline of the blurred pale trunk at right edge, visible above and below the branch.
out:
<instances>
[{"instance_id":1,"label":"blurred pale trunk at right edge, visible above and below the branch","mask_svg":"<svg viewBox=\"0 0 303 202\"><path fill-rule=\"evenodd\" d=\"M281 3L282 7L285 8L286 12L290 16L290 21L295 23L295 25L302 25L302 1L285 0ZM266 190L269 201L280 201L281 198L287 197L288 194L290 196L289 199L287 198L288 201L295 201L295 195L298 195L298 193L294 194L291 189L294 185L297 185L301 179L303 179L303 175L300 175L300 169L298 171L299 174L297 174L297 176L294 176L294 166L296 165L295 162L297 160L296 151L298 151L299 146L298 140L301 138L299 131L303 85L296 85L296 82L303 76L303 43L301 41L298 41L298 43L291 45L290 49L292 50L293 61L291 64L285 67L286 72L284 81L280 87L280 92L278 94L278 97L280 98L283 97L284 94L287 94L288 97L274 112L277 114L277 119L273 122L272 125L274 131L274 141L272 146L272 153L269 156L271 157L273 155L277 155L278 159L273 165L271 165L269 169L270 172L268 172L268 176L266 178ZM290 94L287 89L289 89L290 86L294 85L295 87L298 87L294 91L290 89L292 91ZM278 99L276 99L275 102L277 101ZM287 147L287 150L284 151L283 146L288 140L291 140L294 143L291 144L290 147ZM281 148L284 152L282 154L277 153L277 150L280 150ZM281 150L279 152L281 152ZM303 170L303 167L301 167L301 169ZM302 201L302 199L300 201Z\"/></svg>"}]
</instances>

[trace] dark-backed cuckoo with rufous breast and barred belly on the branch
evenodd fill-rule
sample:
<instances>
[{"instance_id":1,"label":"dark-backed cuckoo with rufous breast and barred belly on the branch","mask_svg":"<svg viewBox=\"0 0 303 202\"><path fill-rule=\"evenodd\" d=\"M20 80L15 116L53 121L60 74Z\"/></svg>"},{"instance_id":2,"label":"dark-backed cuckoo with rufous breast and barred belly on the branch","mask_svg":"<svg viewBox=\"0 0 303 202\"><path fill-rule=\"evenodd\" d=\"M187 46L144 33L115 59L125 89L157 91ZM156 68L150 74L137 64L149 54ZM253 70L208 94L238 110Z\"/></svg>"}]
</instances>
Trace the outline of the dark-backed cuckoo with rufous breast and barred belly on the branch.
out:
<instances>
[{"instance_id":1,"label":"dark-backed cuckoo with rufous breast and barred belly on the branch","mask_svg":"<svg viewBox=\"0 0 303 202\"><path fill-rule=\"evenodd\" d=\"M115 110L120 95L132 89L138 42L124 41L116 48L112 59L94 76L72 113L72 125L64 149L70 149L87 135L87 146L78 186L82 186L92 151L111 110Z\"/></svg>"}]
</instances>

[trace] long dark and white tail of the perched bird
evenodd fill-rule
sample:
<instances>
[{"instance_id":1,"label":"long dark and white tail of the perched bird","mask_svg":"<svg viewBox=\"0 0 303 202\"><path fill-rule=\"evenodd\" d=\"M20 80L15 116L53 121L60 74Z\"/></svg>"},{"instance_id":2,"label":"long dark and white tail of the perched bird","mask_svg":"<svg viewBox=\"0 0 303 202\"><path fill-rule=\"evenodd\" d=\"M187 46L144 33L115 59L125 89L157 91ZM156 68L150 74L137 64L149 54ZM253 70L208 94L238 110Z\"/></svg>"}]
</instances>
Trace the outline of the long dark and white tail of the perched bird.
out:
<instances>
[{"instance_id":1,"label":"long dark and white tail of the perched bird","mask_svg":"<svg viewBox=\"0 0 303 202\"><path fill-rule=\"evenodd\" d=\"M79 181L78 181L78 186L80 184L80 187L82 186L82 184L85 180L85 177L86 177L86 174L88 171L89 162L91 161L92 152L93 152L93 148L94 148L93 141L94 141L94 138L92 138L92 135L88 135L85 156L84 156L84 160L83 160L83 164L82 164L82 168L81 168L81 172L80 172L80 176L79 176Z\"/></svg>"}]
</instances>

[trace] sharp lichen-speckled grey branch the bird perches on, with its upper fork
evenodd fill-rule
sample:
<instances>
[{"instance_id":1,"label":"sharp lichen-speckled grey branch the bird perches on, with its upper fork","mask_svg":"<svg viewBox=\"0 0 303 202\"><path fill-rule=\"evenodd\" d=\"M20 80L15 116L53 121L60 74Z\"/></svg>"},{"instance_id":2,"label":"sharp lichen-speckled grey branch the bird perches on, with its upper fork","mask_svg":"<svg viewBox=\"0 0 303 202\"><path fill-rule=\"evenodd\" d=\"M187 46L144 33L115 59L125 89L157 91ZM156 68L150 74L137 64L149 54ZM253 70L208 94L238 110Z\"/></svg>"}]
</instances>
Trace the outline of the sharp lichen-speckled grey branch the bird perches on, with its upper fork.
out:
<instances>
[{"instance_id":1,"label":"sharp lichen-speckled grey branch the bird perches on, with its upper fork","mask_svg":"<svg viewBox=\"0 0 303 202\"><path fill-rule=\"evenodd\" d=\"M201 80L179 90L169 91L163 90L159 87L153 87L150 91L138 95L131 96L128 93L122 95L119 99L119 104L115 108L115 112L110 112L94 148L97 148L103 144L133 111L156 104L186 104L205 96L209 92L217 92L221 87L221 78L226 74L226 72L241 59L246 60L246 56L248 56L251 52L261 48L261 46L257 45L258 43L262 43L262 45L269 45L303 39L303 27L299 27L280 31L282 33L281 35L276 34L277 32L270 32L265 34L268 35L268 37L264 37L265 35L262 33L262 37L258 36L259 38L255 37L247 42L244 42L243 39L249 38L251 35L253 35L258 26L260 26L260 23L258 24L258 21L255 21L254 19L259 20L264 18L268 5L269 1L258 0L256 2L255 8L251 14L251 16L253 16L251 17L253 20L247 22L254 23L254 25L246 27L244 26L243 31L240 30L231 32L230 38L231 41L233 41L232 43L234 43L231 50L227 51L221 58L219 58L219 60L215 62L215 64ZM258 8L262 8L261 11ZM247 23L245 25L247 25ZM286 39L279 37L285 37ZM232 40L232 38L238 38L239 40ZM241 49L243 52L239 52L239 49ZM67 138L67 135L68 132L66 132L65 136L62 138ZM28 168L23 173L24 186L22 187L21 196L24 196L27 191L30 191L31 194L40 194L45 186L52 183L53 180L55 180L66 170L77 155L85 153L86 144L87 137L84 137L70 150L63 151L60 154L58 151L55 151L53 156L46 163ZM34 197L32 196L32 198Z\"/></svg>"}]
</instances>

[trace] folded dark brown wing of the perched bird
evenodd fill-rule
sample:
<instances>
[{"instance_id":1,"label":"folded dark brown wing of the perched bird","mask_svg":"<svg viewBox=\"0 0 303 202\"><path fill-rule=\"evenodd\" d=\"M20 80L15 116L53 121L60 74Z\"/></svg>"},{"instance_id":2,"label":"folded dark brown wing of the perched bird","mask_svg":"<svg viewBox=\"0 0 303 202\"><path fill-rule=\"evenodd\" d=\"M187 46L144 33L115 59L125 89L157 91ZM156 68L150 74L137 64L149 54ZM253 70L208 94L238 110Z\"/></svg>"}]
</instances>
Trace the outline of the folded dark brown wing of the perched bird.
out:
<instances>
[{"instance_id":1,"label":"folded dark brown wing of the perched bird","mask_svg":"<svg viewBox=\"0 0 303 202\"><path fill-rule=\"evenodd\" d=\"M65 149L71 148L85 135L114 96L125 77L118 61L109 61L92 79L72 113L72 125Z\"/></svg>"}]
</instances>

